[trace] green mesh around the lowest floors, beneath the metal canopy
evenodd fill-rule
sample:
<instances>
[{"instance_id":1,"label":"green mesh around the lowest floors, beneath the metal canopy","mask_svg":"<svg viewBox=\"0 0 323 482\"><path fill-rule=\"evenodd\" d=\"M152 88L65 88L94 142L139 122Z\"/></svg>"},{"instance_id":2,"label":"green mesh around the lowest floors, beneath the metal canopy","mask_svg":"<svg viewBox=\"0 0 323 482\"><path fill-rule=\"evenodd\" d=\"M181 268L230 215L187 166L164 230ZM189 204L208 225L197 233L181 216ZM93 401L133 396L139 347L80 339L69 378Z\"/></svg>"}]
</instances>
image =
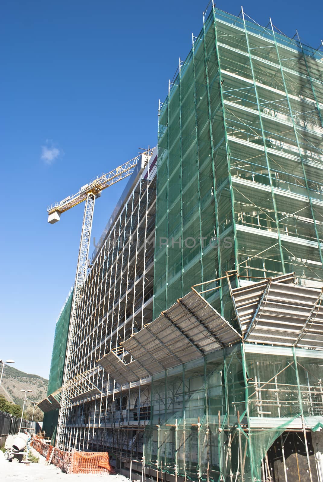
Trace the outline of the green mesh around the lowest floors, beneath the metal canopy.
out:
<instances>
[{"instance_id":1,"label":"green mesh around the lowest floors, beneath the metal canopy","mask_svg":"<svg viewBox=\"0 0 323 482\"><path fill-rule=\"evenodd\" d=\"M322 353L238 344L154 375L145 464L195 481L261 481L285 430L323 427L322 368Z\"/></svg>"}]
</instances>

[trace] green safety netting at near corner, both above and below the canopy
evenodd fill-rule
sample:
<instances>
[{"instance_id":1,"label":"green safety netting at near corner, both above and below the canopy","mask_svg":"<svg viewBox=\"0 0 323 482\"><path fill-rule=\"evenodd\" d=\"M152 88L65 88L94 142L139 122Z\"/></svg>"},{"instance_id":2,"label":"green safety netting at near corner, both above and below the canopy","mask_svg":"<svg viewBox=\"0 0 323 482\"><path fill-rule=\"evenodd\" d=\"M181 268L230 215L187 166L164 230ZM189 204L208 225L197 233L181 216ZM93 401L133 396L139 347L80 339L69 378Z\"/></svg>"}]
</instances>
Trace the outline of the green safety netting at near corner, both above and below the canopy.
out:
<instances>
[{"instance_id":1,"label":"green safety netting at near corner, both above and below the canopy","mask_svg":"<svg viewBox=\"0 0 323 482\"><path fill-rule=\"evenodd\" d=\"M218 278L199 291L234 324L227 270L322 280L321 57L211 9L159 111L153 318ZM322 360L308 354L236 347L154 376L145 462L194 480L260 480L283 432L322 425Z\"/></svg>"}]
</instances>

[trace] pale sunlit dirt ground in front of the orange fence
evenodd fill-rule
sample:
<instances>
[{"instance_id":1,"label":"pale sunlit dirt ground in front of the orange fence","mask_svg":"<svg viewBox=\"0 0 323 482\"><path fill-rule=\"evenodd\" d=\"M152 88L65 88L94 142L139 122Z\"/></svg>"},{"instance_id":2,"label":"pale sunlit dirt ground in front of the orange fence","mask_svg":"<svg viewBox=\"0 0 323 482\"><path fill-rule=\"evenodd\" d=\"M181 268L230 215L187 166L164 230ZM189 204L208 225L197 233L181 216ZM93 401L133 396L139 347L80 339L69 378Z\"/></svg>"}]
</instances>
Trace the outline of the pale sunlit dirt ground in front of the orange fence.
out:
<instances>
[{"instance_id":1,"label":"pale sunlit dirt ground in front of the orange fence","mask_svg":"<svg viewBox=\"0 0 323 482\"><path fill-rule=\"evenodd\" d=\"M8 462L0 451L0 481L25 482L130 482L123 475L98 474L64 474L54 465L45 465L45 458L36 450L31 449L33 455L39 458L38 464L19 464L18 461Z\"/></svg>"}]
</instances>

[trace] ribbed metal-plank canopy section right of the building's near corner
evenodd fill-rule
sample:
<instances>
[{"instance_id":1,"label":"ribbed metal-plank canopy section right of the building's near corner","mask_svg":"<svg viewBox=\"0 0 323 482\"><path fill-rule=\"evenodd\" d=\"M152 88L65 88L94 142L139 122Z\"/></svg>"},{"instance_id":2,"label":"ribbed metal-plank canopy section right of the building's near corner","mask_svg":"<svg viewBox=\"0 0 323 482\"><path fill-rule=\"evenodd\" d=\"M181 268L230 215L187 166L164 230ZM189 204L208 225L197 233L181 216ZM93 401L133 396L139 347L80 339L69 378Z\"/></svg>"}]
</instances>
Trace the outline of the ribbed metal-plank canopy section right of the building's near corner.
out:
<instances>
[{"instance_id":1,"label":"ribbed metal-plank canopy section right of the building's near corner","mask_svg":"<svg viewBox=\"0 0 323 482\"><path fill-rule=\"evenodd\" d=\"M286 275L287 276L287 275ZM322 290L268 279L233 290L245 340L300 348L323 346Z\"/></svg>"}]
</instances>

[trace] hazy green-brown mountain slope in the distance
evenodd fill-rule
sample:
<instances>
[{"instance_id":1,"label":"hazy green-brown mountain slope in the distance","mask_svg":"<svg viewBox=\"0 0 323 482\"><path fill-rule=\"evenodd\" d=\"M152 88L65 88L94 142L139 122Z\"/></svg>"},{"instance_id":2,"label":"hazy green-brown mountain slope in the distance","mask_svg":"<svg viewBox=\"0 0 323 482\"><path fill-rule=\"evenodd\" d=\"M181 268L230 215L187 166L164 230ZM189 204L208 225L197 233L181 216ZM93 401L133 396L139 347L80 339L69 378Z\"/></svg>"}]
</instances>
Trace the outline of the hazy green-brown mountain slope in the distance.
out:
<instances>
[{"instance_id":1,"label":"hazy green-brown mountain slope in the distance","mask_svg":"<svg viewBox=\"0 0 323 482\"><path fill-rule=\"evenodd\" d=\"M46 378L21 372L10 365L4 366L0 395L4 395L9 402L23 405L25 393L20 390L32 390L32 393L27 394L27 399L40 402L46 397L47 387Z\"/></svg>"}]
</instances>

